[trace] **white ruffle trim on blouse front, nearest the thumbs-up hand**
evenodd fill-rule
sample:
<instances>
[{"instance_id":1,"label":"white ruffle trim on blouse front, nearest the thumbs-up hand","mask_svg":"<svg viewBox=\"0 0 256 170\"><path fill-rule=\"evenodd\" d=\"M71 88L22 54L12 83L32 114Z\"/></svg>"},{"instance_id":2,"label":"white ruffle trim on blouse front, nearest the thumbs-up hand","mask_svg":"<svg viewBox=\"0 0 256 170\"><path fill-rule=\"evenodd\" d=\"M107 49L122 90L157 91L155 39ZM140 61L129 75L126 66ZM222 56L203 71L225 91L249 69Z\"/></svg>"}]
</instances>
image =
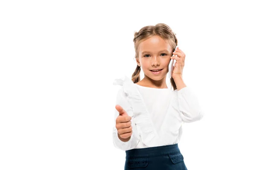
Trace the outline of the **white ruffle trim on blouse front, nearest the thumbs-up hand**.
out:
<instances>
[{"instance_id":1,"label":"white ruffle trim on blouse front, nearest the thumbs-up hand","mask_svg":"<svg viewBox=\"0 0 256 170\"><path fill-rule=\"evenodd\" d=\"M140 139L147 147L156 146L160 141L159 136L145 107L143 98L137 87L135 87L134 82L127 76L124 76L121 79L115 79L113 85L122 85L125 94L127 94L128 103L134 113L134 123L137 127L137 132L133 130L134 136Z\"/></svg>"}]
</instances>

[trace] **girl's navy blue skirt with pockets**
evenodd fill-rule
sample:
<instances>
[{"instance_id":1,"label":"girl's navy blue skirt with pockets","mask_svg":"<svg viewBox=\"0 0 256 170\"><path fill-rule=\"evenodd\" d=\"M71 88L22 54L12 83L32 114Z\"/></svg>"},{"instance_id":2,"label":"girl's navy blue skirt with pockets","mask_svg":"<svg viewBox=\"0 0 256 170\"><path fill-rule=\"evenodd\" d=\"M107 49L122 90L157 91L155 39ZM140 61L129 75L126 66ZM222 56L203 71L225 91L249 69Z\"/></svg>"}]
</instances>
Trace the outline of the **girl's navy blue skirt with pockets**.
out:
<instances>
[{"instance_id":1,"label":"girl's navy blue skirt with pockets","mask_svg":"<svg viewBox=\"0 0 256 170\"><path fill-rule=\"evenodd\" d=\"M126 150L125 170L187 170L178 144Z\"/></svg>"}]
</instances>

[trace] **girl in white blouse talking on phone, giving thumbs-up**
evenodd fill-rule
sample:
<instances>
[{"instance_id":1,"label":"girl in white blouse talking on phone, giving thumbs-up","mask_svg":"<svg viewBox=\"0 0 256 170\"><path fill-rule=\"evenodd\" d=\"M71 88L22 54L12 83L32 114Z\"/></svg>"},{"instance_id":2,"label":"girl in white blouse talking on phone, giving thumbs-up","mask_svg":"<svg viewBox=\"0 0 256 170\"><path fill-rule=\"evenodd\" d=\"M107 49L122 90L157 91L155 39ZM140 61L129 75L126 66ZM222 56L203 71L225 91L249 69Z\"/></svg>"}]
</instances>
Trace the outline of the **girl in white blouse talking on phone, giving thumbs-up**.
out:
<instances>
[{"instance_id":1,"label":"girl in white blouse talking on phone, giving thumbs-up","mask_svg":"<svg viewBox=\"0 0 256 170\"><path fill-rule=\"evenodd\" d=\"M198 121L204 113L183 82L186 55L176 46L176 34L166 24L141 28L134 34L134 74L113 83L121 85L113 143L126 152L125 170L187 170L178 147L182 124ZM166 85L171 59L176 60L170 79L174 91Z\"/></svg>"}]
</instances>

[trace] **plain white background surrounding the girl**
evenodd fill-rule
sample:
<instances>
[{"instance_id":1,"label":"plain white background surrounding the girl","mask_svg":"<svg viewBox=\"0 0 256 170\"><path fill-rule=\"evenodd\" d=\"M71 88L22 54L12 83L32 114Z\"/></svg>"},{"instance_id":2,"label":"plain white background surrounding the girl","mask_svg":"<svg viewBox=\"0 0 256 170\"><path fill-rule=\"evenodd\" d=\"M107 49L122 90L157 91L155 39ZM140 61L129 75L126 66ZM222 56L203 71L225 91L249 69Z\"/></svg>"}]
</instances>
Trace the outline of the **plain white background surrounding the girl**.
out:
<instances>
[{"instance_id":1,"label":"plain white background surrounding the girl","mask_svg":"<svg viewBox=\"0 0 256 170\"><path fill-rule=\"evenodd\" d=\"M184 124L188 170L252 169L255 6L250 1L0 2L0 169L122 170L113 81L135 68L134 31L166 23L204 118Z\"/></svg>"}]
</instances>

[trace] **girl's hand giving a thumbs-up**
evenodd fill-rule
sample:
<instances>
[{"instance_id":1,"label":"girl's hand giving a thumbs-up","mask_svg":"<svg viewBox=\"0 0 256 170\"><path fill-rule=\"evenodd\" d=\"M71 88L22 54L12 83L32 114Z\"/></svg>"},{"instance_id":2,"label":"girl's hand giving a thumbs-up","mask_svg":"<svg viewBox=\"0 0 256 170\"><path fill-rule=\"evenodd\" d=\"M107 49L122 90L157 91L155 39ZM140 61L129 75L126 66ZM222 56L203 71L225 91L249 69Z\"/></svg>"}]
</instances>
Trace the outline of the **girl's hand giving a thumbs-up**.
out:
<instances>
[{"instance_id":1,"label":"girl's hand giving a thumbs-up","mask_svg":"<svg viewBox=\"0 0 256 170\"><path fill-rule=\"evenodd\" d=\"M122 139L128 139L132 134L131 116L120 106L116 105L119 116L116 118L116 129Z\"/></svg>"}]
</instances>

